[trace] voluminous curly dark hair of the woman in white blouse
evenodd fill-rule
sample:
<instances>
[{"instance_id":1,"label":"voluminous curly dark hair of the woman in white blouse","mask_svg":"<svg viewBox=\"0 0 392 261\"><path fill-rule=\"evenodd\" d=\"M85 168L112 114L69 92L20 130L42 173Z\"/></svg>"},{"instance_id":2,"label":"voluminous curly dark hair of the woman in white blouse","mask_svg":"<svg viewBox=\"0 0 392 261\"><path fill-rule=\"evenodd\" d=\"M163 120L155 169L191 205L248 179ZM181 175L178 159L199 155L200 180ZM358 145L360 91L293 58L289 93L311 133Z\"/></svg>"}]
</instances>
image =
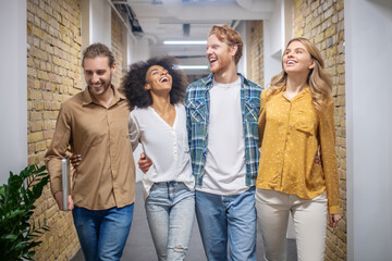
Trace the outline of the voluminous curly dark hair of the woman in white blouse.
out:
<instances>
[{"instance_id":1,"label":"voluminous curly dark hair of the woman in white blouse","mask_svg":"<svg viewBox=\"0 0 392 261\"><path fill-rule=\"evenodd\" d=\"M176 69L175 64L177 64L177 60L173 57L154 57L148 59L147 62L139 61L131 64L121 85L130 101L130 107L147 108L152 103L151 94L145 89L145 85L147 71L154 65L164 67L172 76L173 84L170 90L170 103L183 103L188 82L184 72Z\"/></svg>"}]
</instances>

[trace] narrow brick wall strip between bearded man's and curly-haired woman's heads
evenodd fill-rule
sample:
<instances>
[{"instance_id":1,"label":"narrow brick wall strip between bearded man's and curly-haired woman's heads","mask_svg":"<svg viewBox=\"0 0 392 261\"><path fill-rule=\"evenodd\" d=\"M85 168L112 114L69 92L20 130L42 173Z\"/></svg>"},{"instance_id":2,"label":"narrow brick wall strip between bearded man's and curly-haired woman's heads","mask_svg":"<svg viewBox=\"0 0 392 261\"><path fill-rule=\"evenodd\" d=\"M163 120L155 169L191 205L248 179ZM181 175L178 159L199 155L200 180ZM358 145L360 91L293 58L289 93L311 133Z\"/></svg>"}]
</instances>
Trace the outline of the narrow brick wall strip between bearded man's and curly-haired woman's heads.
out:
<instances>
[{"instance_id":1,"label":"narrow brick wall strip between bearded man's and curly-haired woman's heads","mask_svg":"<svg viewBox=\"0 0 392 261\"><path fill-rule=\"evenodd\" d=\"M115 59L115 73L112 77L112 83L115 87L120 87L121 78L123 76L123 34L122 22L118 17L118 14L112 10L111 13L111 50Z\"/></svg>"}]
</instances>

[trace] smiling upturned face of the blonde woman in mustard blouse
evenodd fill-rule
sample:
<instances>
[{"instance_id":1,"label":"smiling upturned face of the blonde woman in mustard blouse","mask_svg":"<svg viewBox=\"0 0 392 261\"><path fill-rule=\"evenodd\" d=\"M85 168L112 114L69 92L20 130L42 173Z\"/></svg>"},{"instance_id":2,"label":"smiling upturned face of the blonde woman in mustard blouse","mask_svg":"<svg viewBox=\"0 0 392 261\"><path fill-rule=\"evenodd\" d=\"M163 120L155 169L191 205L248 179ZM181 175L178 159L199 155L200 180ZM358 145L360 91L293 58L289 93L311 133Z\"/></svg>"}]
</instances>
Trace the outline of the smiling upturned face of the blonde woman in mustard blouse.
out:
<instances>
[{"instance_id":1,"label":"smiling upturned face of the blonde woman in mustard blouse","mask_svg":"<svg viewBox=\"0 0 392 261\"><path fill-rule=\"evenodd\" d=\"M283 70L287 74L309 74L315 67L314 59L301 41L292 41L282 58Z\"/></svg>"}]
</instances>

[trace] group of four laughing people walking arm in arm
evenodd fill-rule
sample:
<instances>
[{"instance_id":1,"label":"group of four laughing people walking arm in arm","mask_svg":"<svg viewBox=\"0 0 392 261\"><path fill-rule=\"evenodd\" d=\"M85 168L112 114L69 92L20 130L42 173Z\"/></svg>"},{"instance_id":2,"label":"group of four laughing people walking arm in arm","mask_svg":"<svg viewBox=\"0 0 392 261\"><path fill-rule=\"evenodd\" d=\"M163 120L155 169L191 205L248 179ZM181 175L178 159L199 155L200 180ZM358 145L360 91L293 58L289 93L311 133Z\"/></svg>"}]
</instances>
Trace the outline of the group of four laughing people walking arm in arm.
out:
<instances>
[{"instance_id":1,"label":"group of four laughing people walking arm in arm","mask_svg":"<svg viewBox=\"0 0 392 261\"><path fill-rule=\"evenodd\" d=\"M237 32L213 26L209 76L187 86L174 59L152 58L131 65L121 88L126 99L111 85L109 49L86 49L88 88L62 104L46 157L60 209L61 159L69 145L83 158L69 204L86 260L122 254L138 144L158 260L185 259L195 212L208 260L228 260L228 249L230 260L256 260L257 220L265 259L285 260L290 212L298 260L323 259L327 215L332 227L341 216L331 82L322 58L307 39L291 40L282 72L262 90L236 72L242 49Z\"/></svg>"}]
</instances>

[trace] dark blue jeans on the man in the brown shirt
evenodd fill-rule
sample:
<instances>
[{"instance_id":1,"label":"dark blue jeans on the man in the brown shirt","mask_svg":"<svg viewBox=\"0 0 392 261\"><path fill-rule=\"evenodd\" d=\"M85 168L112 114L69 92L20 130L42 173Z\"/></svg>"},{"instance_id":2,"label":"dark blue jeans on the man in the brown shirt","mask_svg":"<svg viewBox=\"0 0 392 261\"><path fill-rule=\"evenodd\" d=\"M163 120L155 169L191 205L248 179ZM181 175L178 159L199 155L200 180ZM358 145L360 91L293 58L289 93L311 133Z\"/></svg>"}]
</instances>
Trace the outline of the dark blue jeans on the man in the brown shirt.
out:
<instances>
[{"instance_id":1,"label":"dark blue jeans on the man in the brown shirt","mask_svg":"<svg viewBox=\"0 0 392 261\"><path fill-rule=\"evenodd\" d=\"M131 229L134 204L107 210L72 210L86 261L120 260Z\"/></svg>"}]
</instances>

